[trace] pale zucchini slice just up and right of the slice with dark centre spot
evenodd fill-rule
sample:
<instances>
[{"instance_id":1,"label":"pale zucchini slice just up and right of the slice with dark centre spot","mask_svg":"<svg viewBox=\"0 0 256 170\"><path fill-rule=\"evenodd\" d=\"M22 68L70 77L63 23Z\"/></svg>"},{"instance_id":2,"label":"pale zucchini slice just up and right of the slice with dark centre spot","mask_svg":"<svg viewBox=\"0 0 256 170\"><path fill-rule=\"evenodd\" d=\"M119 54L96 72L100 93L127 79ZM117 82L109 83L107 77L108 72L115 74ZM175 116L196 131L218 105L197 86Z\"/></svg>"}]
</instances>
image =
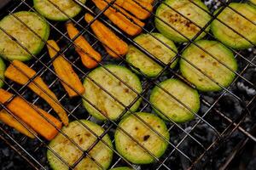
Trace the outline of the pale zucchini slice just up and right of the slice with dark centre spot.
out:
<instances>
[{"instance_id":1,"label":"pale zucchini slice just up and right of the slice with dark centre spot","mask_svg":"<svg viewBox=\"0 0 256 170\"><path fill-rule=\"evenodd\" d=\"M200 109L200 97L195 89L173 78L160 82L159 86L160 88L154 87L150 94L150 102L154 105L153 109L157 114L166 121L171 119L177 123L188 122L194 119L193 112L196 113ZM180 100L183 105L179 104L176 99L173 99L171 95L161 88ZM193 112L185 108L184 105Z\"/></svg>"}]
</instances>

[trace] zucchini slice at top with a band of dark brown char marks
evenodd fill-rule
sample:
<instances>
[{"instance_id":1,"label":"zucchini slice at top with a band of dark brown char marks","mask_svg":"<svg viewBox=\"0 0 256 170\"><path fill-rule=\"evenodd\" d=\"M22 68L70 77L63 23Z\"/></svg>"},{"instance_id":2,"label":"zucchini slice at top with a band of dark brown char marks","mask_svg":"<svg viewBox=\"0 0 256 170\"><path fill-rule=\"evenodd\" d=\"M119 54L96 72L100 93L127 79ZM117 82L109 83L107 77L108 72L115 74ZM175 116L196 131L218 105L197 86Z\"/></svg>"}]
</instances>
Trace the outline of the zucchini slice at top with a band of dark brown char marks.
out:
<instances>
[{"instance_id":1,"label":"zucchini slice at top with a band of dark brown char marks","mask_svg":"<svg viewBox=\"0 0 256 170\"><path fill-rule=\"evenodd\" d=\"M179 14L174 11L173 8ZM156 10L156 16L158 18L156 17L154 20L155 27L164 36L170 38L174 42L188 42L189 40L187 38L192 39L195 37L195 35L201 30L200 27L206 26L207 22L211 20L211 16L202 8L208 11L207 6L202 3L201 0L194 0L193 3L189 0L166 0L165 3L161 3L159 8ZM197 26L191 21L193 21ZM209 31L209 29L210 27L207 27L206 31ZM183 37L181 34L187 38ZM202 32L196 40L201 39L205 35L206 33Z\"/></svg>"}]
</instances>

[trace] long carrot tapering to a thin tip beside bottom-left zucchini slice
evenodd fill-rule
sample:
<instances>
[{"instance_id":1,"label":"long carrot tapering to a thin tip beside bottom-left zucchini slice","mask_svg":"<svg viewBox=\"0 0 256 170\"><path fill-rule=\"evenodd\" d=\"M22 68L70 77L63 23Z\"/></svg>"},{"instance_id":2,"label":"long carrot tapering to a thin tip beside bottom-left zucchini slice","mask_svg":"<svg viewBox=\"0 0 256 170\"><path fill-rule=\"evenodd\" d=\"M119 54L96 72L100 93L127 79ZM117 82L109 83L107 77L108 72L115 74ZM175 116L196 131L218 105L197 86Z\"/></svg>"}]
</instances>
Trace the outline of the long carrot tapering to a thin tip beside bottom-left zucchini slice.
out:
<instances>
[{"instance_id":1,"label":"long carrot tapering to a thin tip beside bottom-left zucchini slice","mask_svg":"<svg viewBox=\"0 0 256 170\"><path fill-rule=\"evenodd\" d=\"M33 71L32 68L28 67L19 60L14 60L4 72L5 77L8 77L10 80L21 85L29 82L29 79L35 74L36 71ZM32 82L27 85L27 87L31 88L35 94L38 94L38 96L43 98L53 108L58 116L60 116L64 125L68 125L68 116L66 111L62 109L61 103L58 102L55 94L48 88L41 77L35 77Z\"/></svg>"}]
</instances>

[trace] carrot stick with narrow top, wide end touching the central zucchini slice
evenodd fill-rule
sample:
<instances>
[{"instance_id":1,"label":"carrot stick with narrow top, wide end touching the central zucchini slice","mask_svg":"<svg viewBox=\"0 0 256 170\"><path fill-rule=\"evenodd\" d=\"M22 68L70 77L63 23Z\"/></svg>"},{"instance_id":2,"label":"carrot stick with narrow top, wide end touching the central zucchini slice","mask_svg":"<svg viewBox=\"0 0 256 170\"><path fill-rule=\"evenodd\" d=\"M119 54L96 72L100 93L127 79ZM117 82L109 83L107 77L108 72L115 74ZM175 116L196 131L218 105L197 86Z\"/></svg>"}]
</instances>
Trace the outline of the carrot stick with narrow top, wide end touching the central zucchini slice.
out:
<instances>
[{"instance_id":1,"label":"carrot stick with narrow top, wide end touching the central zucchini slice","mask_svg":"<svg viewBox=\"0 0 256 170\"><path fill-rule=\"evenodd\" d=\"M59 46L54 40L47 41L47 48L49 50L50 58L55 57L55 55L60 51ZM80 81L79 76L75 73L75 71L73 71L72 65L68 63L63 56L57 56L53 61L53 66L55 67L55 72L61 78L61 80L69 85L67 86L66 83L61 81L61 84L66 89L69 97L72 98L78 96L79 94L84 94L84 86ZM73 87L73 89L75 89L79 94L69 87Z\"/></svg>"}]
</instances>

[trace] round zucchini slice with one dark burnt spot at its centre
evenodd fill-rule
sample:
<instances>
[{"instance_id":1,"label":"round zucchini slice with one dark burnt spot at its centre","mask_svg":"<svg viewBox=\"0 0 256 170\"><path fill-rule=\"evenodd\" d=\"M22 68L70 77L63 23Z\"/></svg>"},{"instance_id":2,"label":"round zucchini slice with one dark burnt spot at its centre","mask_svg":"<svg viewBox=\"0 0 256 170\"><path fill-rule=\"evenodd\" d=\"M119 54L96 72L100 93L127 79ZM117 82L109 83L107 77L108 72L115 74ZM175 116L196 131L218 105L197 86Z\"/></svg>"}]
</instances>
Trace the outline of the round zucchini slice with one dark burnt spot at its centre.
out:
<instances>
[{"instance_id":1,"label":"round zucchini slice with one dark burnt spot at its centre","mask_svg":"<svg viewBox=\"0 0 256 170\"><path fill-rule=\"evenodd\" d=\"M166 124L158 116L145 112L136 114L156 132L169 140L170 135ZM136 116L132 114L126 116L119 122L119 127L124 129L126 133L129 133L133 139L136 139L139 144L142 144L143 147L154 154L154 156L159 158L165 153L168 142L157 133L154 133L154 131L141 122ZM119 154L135 164L148 164L153 162L154 157L150 156L147 151L144 151L143 148L125 134L124 131L118 128L114 134L115 147Z\"/></svg>"}]
</instances>

